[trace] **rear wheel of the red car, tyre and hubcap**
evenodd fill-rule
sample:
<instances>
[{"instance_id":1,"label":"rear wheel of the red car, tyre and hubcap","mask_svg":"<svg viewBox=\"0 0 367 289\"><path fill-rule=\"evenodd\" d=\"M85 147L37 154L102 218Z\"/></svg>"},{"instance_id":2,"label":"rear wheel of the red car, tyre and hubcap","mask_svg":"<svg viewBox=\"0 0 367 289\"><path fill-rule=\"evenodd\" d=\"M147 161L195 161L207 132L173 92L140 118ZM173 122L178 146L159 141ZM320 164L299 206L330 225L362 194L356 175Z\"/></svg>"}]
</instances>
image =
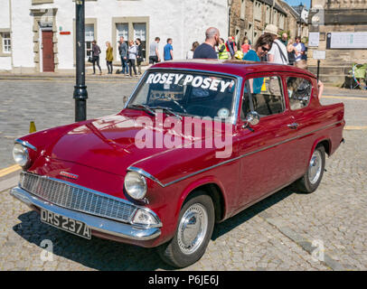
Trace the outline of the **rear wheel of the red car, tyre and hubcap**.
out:
<instances>
[{"instance_id":1,"label":"rear wheel of the red car, tyre and hubcap","mask_svg":"<svg viewBox=\"0 0 367 289\"><path fill-rule=\"evenodd\" d=\"M311 156L305 175L296 182L300 191L310 193L317 189L325 170L325 148L318 145Z\"/></svg>"}]
</instances>

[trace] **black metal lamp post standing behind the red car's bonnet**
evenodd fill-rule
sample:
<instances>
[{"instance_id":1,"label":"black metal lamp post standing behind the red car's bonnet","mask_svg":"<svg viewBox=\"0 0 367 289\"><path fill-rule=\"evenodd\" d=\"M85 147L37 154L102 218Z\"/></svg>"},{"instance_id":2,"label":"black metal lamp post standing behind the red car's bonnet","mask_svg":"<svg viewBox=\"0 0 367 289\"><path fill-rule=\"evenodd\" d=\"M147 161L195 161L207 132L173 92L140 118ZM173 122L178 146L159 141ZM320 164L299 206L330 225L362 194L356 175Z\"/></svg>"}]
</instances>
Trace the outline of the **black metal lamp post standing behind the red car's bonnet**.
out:
<instances>
[{"instance_id":1,"label":"black metal lamp post standing behind the red car's bonnet","mask_svg":"<svg viewBox=\"0 0 367 289\"><path fill-rule=\"evenodd\" d=\"M87 119L88 92L85 85L85 0L75 1L76 85L74 87L75 121Z\"/></svg>"}]
</instances>

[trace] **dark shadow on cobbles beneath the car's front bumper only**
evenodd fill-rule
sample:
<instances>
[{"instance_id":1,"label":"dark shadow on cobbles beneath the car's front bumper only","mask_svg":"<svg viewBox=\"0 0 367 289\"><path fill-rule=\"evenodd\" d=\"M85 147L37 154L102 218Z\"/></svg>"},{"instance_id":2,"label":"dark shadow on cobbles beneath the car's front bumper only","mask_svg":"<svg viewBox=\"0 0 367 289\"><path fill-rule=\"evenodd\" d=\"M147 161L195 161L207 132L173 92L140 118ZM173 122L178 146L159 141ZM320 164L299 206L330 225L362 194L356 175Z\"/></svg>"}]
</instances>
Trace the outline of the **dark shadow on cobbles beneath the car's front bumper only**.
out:
<instances>
[{"instance_id":1,"label":"dark shadow on cobbles beneath the car's front bumper only","mask_svg":"<svg viewBox=\"0 0 367 289\"><path fill-rule=\"evenodd\" d=\"M94 237L91 240L83 239L43 224L35 211L24 213L18 219L22 223L14 226L15 233L38 247L41 247L43 239L49 239L55 256L70 259L82 266L108 271L173 269L161 261L155 248L136 247ZM54 260L57 260L55 256ZM62 263L60 259L59 262Z\"/></svg>"}]
</instances>

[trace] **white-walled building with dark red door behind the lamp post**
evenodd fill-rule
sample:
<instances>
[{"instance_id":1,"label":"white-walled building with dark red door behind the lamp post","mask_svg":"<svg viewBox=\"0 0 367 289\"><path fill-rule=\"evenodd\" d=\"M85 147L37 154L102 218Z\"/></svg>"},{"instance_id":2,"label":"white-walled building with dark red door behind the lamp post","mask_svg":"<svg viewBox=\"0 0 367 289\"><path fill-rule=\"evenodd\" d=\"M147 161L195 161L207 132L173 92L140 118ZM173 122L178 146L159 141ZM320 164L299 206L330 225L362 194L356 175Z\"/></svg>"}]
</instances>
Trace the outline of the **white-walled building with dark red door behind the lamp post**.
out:
<instances>
[{"instance_id":1,"label":"white-walled building with dark red door behind the lamp post","mask_svg":"<svg viewBox=\"0 0 367 289\"><path fill-rule=\"evenodd\" d=\"M75 0L0 0L0 7L0 70L74 70ZM102 69L107 41L114 48L114 64L120 64L121 35L125 40L140 38L146 59L155 36L161 39L161 57L166 39L172 38L174 58L184 59L193 42L204 41L209 26L228 33L226 0L86 0L85 8L86 48L97 40Z\"/></svg>"}]
</instances>

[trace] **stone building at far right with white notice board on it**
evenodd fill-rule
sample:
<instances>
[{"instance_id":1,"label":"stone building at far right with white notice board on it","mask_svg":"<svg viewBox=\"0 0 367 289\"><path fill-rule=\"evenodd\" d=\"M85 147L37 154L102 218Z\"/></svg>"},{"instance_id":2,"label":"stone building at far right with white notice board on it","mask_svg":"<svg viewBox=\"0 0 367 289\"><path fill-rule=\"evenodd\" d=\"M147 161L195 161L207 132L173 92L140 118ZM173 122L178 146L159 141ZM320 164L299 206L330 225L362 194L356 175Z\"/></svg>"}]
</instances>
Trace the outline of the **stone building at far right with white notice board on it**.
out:
<instances>
[{"instance_id":1,"label":"stone building at far right with white notice board on it","mask_svg":"<svg viewBox=\"0 0 367 289\"><path fill-rule=\"evenodd\" d=\"M309 30L319 44L308 49L309 70L316 72L314 51L326 51L320 79L341 85L353 62L367 62L367 0L312 0L311 7Z\"/></svg>"}]
</instances>

